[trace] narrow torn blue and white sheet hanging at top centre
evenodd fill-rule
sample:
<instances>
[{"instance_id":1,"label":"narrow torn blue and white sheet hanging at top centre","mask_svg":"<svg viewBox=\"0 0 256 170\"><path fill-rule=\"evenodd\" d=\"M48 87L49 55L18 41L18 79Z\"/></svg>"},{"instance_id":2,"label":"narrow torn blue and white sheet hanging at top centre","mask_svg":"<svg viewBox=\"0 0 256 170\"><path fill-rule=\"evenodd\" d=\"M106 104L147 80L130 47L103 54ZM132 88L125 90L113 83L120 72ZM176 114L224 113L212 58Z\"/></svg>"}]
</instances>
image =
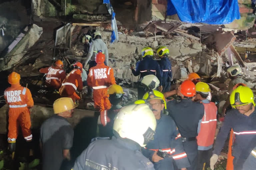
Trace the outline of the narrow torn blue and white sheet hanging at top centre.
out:
<instances>
[{"instance_id":1,"label":"narrow torn blue and white sheet hanging at top centre","mask_svg":"<svg viewBox=\"0 0 256 170\"><path fill-rule=\"evenodd\" d=\"M111 43L113 42L118 42L118 30L117 30L117 24L116 24L116 13L113 10L112 5L110 4L109 0L103 0L103 4L106 4L108 13L112 15L112 21L111 21L111 26L112 26L112 34L111 34Z\"/></svg>"}]
</instances>

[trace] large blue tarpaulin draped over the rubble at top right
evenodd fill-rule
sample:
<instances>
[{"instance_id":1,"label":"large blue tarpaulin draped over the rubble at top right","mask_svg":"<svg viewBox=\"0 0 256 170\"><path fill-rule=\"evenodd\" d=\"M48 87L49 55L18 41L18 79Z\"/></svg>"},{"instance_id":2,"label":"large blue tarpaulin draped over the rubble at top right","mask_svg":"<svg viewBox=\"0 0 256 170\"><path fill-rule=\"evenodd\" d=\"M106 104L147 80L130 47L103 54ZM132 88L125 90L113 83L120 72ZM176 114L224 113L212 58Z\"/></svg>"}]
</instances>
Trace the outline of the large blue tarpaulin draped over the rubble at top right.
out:
<instances>
[{"instance_id":1,"label":"large blue tarpaulin draped over the rubble at top right","mask_svg":"<svg viewBox=\"0 0 256 170\"><path fill-rule=\"evenodd\" d=\"M229 24L240 19L237 0L168 0L167 15L173 14L187 23Z\"/></svg>"}]
</instances>

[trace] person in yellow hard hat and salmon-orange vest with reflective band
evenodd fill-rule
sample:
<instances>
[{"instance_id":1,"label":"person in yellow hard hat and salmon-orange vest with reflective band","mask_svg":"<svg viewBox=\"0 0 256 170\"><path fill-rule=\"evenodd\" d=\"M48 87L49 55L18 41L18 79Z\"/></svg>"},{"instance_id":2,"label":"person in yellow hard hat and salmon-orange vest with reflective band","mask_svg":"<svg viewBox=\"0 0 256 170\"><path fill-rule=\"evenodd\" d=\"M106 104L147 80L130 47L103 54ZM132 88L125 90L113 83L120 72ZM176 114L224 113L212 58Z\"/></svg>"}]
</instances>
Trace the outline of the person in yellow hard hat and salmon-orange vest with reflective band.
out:
<instances>
[{"instance_id":1,"label":"person in yellow hard hat and salmon-orange vest with reflective band","mask_svg":"<svg viewBox=\"0 0 256 170\"><path fill-rule=\"evenodd\" d=\"M207 83L196 83L196 100L204 105L204 116L200 121L200 131L197 136L198 170L210 167L210 158L212 156L212 148L217 126L217 107L213 102L210 102L207 99L209 92L210 87Z\"/></svg>"}]
</instances>

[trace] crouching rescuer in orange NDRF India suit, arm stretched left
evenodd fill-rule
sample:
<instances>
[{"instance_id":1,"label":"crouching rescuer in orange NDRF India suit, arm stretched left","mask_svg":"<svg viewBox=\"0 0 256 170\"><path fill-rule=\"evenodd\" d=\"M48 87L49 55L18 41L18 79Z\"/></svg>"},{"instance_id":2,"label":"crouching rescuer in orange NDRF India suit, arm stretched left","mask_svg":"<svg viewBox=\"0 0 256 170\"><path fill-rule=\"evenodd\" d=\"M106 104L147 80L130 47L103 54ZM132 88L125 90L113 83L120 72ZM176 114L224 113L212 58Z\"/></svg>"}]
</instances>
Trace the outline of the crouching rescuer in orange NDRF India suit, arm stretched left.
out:
<instances>
[{"instance_id":1,"label":"crouching rescuer in orange NDRF India suit, arm stretched left","mask_svg":"<svg viewBox=\"0 0 256 170\"><path fill-rule=\"evenodd\" d=\"M54 90L59 90L62 81L66 77L66 72L63 70L63 62L61 60L55 61L54 66L41 68L39 72L47 74L45 77L45 85Z\"/></svg>"}]
</instances>

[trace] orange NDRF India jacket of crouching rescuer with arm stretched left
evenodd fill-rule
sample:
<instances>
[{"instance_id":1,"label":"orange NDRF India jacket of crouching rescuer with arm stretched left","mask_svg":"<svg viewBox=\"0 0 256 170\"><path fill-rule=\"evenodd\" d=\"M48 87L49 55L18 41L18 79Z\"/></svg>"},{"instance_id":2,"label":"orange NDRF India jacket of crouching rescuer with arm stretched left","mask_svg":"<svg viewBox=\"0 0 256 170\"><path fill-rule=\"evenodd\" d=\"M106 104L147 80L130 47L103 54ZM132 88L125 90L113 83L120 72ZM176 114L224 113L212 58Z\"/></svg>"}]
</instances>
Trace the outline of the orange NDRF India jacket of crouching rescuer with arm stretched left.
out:
<instances>
[{"instance_id":1,"label":"orange NDRF India jacket of crouching rescuer with arm stretched left","mask_svg":"<svg viewBox=\"0 0 256 170\"><path fill-rule=\"evenodd\" d=\"M41 68L39 72L47 74L45 79L46 79L46 83L48 84L51 84L51 80L53 79L57 80L59 83L62 83L62 81L66 77L66 72L58 66Z\"/></svg>"}]
</instances>

